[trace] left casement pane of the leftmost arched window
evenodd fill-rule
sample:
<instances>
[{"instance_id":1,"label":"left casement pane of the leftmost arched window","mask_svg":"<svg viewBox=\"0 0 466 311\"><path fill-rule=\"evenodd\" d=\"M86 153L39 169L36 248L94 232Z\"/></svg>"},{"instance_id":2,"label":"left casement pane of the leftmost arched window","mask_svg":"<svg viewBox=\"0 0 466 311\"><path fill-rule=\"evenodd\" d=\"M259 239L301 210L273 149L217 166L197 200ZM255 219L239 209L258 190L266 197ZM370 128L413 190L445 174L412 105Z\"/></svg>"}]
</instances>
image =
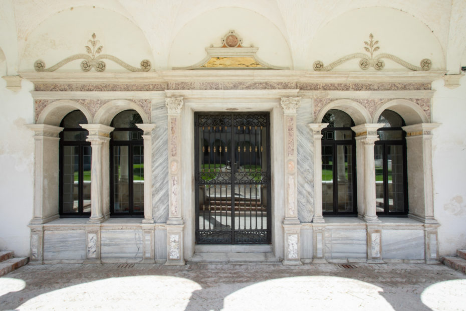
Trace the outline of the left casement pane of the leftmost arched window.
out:
<instances>
[{"instance_id":1,"label":"left casement pane of the leftmost arched window","mask_svg":"<svg viewBox=\"0 0 466 311\"><path fill-rule=\"evenodd\" d=\"M78 213L79 146L63 146L63 212Z\"/></svg>"}]
</instances>

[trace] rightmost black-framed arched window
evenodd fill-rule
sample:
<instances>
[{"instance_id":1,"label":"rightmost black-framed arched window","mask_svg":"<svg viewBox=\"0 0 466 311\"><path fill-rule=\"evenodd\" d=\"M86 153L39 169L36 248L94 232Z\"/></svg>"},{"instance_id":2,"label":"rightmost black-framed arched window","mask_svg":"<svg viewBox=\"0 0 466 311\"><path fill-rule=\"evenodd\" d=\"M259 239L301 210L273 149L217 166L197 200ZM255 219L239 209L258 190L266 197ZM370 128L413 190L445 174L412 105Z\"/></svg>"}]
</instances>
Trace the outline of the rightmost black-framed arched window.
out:
<instances>
[{"instance_id":1,"label":"rightmost black-framed arched window","mask_svg":"<svg viewBox=\"0 0 466 311\"><path fill-rule=\"evenodd\" d=\"M403 118L384 110L377 123L380 140L375 142L375 192L378 216L406 216L408 213L406 174L406 132Z\"/></svg>"}]
</instances>

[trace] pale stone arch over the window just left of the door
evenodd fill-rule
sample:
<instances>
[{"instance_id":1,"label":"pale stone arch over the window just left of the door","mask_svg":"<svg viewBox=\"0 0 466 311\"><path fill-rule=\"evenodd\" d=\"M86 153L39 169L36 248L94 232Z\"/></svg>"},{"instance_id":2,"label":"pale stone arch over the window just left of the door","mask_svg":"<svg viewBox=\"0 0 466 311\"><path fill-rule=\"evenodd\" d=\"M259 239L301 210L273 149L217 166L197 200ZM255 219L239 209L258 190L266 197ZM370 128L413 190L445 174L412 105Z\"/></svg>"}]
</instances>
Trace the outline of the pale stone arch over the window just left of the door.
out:
<instances>
[{"instance_id":1,"label":"pale stone arch over the window just left of the door","mask_svg":"<svg viewBox=\"0 0 466 311\"><path fill-rule=\"evenodd\" d=\"M149 117L141 106L127 99L115 99L99 108L94 116L94 123L110 125L115 115L124 110L136 110L143 123L149 123Z\"/></svg>"}]
</instances>

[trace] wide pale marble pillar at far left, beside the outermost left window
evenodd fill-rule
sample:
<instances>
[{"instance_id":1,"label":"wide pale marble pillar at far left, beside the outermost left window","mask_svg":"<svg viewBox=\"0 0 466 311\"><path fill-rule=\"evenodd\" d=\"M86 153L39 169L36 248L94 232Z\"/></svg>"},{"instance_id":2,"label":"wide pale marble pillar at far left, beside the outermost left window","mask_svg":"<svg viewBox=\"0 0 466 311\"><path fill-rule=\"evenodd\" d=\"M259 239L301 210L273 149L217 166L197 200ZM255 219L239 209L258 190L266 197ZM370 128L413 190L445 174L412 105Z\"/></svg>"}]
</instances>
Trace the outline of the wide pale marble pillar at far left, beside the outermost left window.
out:
<instances>
[{"instance_id":1,"label":"wide pale marble pillar at far left, beside the outermost left window","mask_svg":"<svg viewBox=\"0 0 466 311\"><path fill-rule=\"evenodd\" d=\"M34 211L30 224L57 219L59 205L59 133L63 127L28 124L34 131Z\"/></svg>"}]
</instances>

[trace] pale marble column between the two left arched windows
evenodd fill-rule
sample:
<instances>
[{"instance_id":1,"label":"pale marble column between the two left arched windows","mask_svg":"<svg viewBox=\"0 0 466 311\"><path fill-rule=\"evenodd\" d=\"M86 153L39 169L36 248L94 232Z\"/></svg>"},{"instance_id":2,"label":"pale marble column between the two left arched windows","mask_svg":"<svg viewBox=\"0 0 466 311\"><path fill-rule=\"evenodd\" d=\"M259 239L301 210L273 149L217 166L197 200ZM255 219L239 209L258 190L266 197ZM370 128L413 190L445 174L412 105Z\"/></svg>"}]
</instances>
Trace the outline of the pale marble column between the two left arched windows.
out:
<instances>
[{"instance_id":1,"label":"pale marble column between the two left arched windows","mask_svg":"<svg viewBox=\"0 0 466 311\"><path fill-rule=\"evenodd\" d=\"M103 124L80 124L89 131L91 142L91 217L89 222L100 223L110 216L110 132L113 127Z\"/></svg>"}]
</instances>

